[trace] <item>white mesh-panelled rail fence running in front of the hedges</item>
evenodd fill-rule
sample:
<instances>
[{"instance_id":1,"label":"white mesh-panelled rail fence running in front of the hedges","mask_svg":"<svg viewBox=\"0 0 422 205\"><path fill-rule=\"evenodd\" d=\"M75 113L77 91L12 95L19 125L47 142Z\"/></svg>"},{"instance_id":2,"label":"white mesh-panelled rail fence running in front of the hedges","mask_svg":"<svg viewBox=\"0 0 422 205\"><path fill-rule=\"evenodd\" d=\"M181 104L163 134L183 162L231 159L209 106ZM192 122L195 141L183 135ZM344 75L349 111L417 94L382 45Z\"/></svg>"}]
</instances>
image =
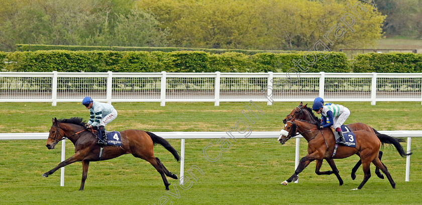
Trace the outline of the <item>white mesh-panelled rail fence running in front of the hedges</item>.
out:
<instances>
[{"instance_id":1,"label":"white mesh-panelled rail fence running in front of the hedges","mask_svg":"<svg viewBox=\"0 0 422 205\"><path fill-rule=\"evenodd\" d=\"M420 101L422 73L0 72L0 102Z\"/></svg>"}]
</instances>

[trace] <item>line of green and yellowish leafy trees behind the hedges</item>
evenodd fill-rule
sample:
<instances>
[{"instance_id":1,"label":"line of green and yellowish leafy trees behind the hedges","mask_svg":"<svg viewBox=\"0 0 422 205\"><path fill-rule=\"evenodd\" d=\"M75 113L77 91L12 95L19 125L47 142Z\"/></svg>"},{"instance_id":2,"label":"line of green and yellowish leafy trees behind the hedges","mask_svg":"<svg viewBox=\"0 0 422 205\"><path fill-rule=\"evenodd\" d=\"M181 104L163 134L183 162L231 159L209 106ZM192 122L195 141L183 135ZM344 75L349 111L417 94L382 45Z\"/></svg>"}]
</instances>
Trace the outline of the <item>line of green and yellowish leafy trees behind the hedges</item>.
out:
<instances>
[{"instance_id":1,"label":"line of green and yellowish leafy trees behind the hedges","mask_svg":"<svg viewBox=\"0 0 422 205\"><path fill-rule=\"evenodd\" d=\"M358 0L3 0L0 51L16 44L309 50L357 2L367 11L354 32L328 46L372 47L386 16Z\"/></svg>"}]
</instances>

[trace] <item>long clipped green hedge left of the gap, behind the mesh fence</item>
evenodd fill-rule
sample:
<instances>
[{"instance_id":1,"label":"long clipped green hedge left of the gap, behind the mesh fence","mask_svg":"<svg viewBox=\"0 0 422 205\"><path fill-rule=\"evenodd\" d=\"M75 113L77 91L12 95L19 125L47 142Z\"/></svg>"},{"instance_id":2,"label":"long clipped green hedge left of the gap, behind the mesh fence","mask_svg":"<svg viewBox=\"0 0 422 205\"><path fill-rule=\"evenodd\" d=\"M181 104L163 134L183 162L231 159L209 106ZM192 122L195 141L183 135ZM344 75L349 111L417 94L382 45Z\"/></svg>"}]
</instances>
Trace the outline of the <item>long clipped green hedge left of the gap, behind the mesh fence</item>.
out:
<instances>
[{"instance_id":1,"label":"long clipped green hedge left of the gap, behind the mesh fence","mask_svg":"<svg viewBox=\"0 0 422 205\"><path fill-rule=\"evenodd\" d=\"M15 72L286 72L294 67L292 60L303 59L303 55L53 50L0 53L2 62L14 62L0 66L3 71ZM303 60L301 65L306 67ZM327 59L319 58L309 68L307 72L351 72L346 55L336 52Z\"/></svg>"}]
</instances>

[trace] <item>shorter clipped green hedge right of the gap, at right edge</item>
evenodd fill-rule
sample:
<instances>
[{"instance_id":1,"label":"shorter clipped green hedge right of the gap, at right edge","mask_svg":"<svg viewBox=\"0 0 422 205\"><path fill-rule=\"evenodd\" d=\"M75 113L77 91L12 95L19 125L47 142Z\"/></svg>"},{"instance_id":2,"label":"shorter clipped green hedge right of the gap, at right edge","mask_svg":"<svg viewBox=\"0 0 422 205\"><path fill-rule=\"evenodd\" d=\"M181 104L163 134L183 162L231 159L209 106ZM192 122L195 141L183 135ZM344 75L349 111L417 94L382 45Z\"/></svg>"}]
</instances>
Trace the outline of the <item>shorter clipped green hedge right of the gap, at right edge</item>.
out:
<instances>
[{"instance_id":1,"label":"shorter clipped green hedge right of the gap, at right edge","mask_svg":"<svg viewBox=\"0 0 422 205\"><path fill-rule=\"evenodd\" d=\"M422 54L414 53L366 53L359 54L352 62L356 73L420 73Z\"/></svg>"}]
</instances>

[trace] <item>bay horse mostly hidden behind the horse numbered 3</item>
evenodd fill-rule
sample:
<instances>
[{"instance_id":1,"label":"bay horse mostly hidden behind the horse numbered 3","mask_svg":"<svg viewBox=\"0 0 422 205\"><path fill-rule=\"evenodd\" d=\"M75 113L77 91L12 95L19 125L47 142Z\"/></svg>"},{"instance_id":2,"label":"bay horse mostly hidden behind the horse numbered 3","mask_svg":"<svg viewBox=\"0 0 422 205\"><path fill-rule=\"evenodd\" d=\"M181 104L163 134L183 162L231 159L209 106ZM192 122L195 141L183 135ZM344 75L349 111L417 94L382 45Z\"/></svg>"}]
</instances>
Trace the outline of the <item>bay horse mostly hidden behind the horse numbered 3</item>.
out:
<instances>
[{"instance_id":1,"label":"bay horse mostly hidden behind the horse numbered 3","mask_svg":"<svg viewBox=\"0 0 422 205\"><path fill-rule=\"evenodd\" d=\"M307 105L307 104L306 104ZM315 115L312 113L312 110L308 107L306 107L306 105L303 105L302 102L300 102L299 106L297 106L296 108L294 108L290 114L288 114L284 119L283 119L283 123L286 124L286 122L288 120L291 120L292 118L296 118L296 119L300 119L300 120L305 120L305 121L309 121L309 122L316 122L319 121L319 118L316 118ZM374 128L372 128L369 125L366 125L364 123L352 123L352 124L348 124L347 125L349 127L350 131L356 131L356 130L365 130L368 132L373 132L377 135L377 137L379 138L380 136L383 136L383 134L379 133L377 130L375 130ZM404 140L401 138L397 139L398 142L403 142ZM388 142L386 142L388 143ZM382 151L379 151L378 153L378 157L381 160L382 157ZM322 163L322 162L321 162ZM359 160L356 165L352 168L352 173L351 173L351 177L353 180L355 180L356 178L356 171L358 170L359 166L362 164L361 160ZM329 172L324 172L324 173L329 173ZM318 173L318 174L324 174L324 173ZM384 178L384 176L382 175L382 173L379 171L379 168L376 167L375 168L375 174L379 177L379 178ZM342 183L341 177L338 176L340 183Z\"/></svg>"}]
</instances>

